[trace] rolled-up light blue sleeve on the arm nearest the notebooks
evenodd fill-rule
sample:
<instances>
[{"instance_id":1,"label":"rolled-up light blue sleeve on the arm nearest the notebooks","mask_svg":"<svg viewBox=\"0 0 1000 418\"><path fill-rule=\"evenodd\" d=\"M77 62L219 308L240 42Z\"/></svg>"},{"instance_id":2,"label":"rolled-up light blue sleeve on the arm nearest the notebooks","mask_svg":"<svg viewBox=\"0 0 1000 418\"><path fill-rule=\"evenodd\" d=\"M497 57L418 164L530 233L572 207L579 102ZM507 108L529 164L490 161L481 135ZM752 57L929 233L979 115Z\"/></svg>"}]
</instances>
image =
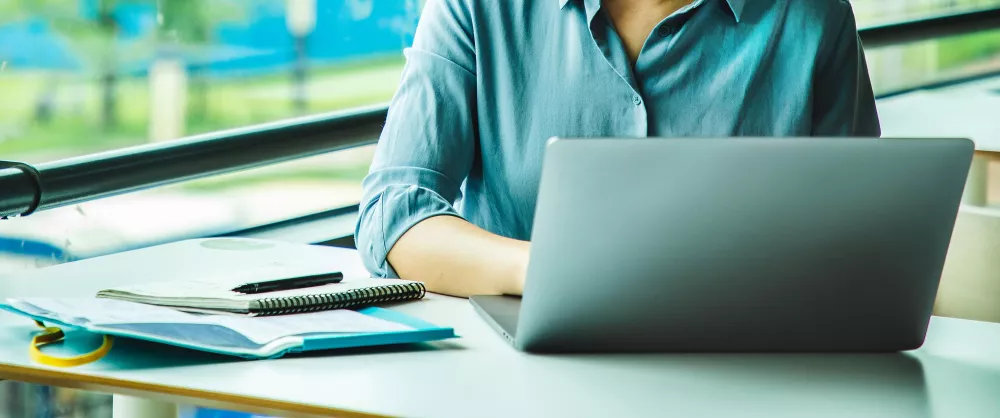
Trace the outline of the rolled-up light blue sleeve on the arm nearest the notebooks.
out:
<instances>
[{"instance_id":1,"label":"rolled-up light blue sleeve on the arm nearest the notebooks","mask_svg":"<svg viewBox=\"0 0 1000 418\"><path fill-rule=\"evenodd\" d=\"M454 208L475 149L475 43L466 0L428 0L371 169L355 242L373 277L398 277L386 257L417 223Z\"/></svg>"}]
</instances>

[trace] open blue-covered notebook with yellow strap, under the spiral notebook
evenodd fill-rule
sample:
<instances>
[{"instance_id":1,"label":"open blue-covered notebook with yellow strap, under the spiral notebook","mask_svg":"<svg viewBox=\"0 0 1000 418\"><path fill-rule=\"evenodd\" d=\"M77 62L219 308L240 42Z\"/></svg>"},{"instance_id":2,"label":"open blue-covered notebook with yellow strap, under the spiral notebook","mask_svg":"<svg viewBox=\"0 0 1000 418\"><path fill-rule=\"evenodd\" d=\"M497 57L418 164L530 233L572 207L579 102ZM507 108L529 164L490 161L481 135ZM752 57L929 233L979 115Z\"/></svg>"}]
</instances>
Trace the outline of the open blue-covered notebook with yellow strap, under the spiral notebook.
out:
<instances>
[{"instance_id":1,"label":"open blue-covered notebook with yellow strap, under the spiral notebook","mask_svg":"<svg viewBox=\"0 0 1000 418\"><path fill-rule=\"evenodd\" d=\"M336 309L287 316L248 317L203 315L143 303L101 298L9 298L0 300L0 311L57 327L60 339L81 338L85 331L104 336L146 340L247 359L278 358L289 353L387 344L423 343L456 338L454 329L379 307ZM26 329L28 321L25 322ZM46 328L49 331L50 328ZM51 331L49 331L51 332ZM36 345L36 361L67 367L66 360L40 351L24 333L25 344ZM108 349L105 349L107 347ZM92 349L70 344L64 349ZM110 340L93 352L73 352L69 360L86 358L82 365L100 360L109 352ZM110 349L110 350L109 350ZM65 351L65 350L63 350Z\"/></svg>"}]
</instances>

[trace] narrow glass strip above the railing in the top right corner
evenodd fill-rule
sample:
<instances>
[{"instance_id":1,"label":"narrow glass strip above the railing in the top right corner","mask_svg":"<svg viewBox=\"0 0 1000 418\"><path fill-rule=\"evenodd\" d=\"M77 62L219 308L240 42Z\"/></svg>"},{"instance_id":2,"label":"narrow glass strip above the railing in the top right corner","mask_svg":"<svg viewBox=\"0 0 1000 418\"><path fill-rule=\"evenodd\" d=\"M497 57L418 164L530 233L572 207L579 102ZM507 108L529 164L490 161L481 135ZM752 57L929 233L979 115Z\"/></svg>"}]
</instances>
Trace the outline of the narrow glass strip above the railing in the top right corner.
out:
<instances>
[{"instance_id":1,"label":"narrow glass strip above the railing in the top right corner","mask_svg":"<svg viewBox=\"0 0 1000 418\"><path fill-rule=\"evenodd\" d=\"M1000 0L851 0L860 27L1000 7Z\"/></svg>"}]
</instances>

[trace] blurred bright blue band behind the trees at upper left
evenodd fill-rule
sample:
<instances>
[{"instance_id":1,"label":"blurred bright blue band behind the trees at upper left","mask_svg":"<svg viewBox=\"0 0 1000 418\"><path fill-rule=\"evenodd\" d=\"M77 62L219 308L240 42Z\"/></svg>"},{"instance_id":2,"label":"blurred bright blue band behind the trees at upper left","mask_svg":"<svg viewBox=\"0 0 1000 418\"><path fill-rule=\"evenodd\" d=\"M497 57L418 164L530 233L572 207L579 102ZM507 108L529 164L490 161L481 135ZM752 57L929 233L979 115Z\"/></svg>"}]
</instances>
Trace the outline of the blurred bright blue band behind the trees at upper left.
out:
<instances>
[{"instance_id":1,"label":"blurred bright blue band behind the trees at upper left","mask_svg":"<svg viewBox=\"0 0 1000 418\"><path fill-rule=\"evenodd\" d=\"M96 24L99 0L78 1L79 18ZM159 50L148 43L156 30L156 3L113 3L119 72L143 75L164 53L217 77L283 72L295 64L295 42L286 26L282 0L197 1L209 10L204 22L209 42L162 45ZM241 8L242 13L232 18L212 15L212 4L223 1L227 7ZM316 29L307 40L309 61L322 64L398 56L412 42L419 9L419 0L317 0ZM0 60L8 66L81 70L95 59L88 59L88 53L92 54L74 50L44 16L0 26Z\"/></svg>"}]
</instances>

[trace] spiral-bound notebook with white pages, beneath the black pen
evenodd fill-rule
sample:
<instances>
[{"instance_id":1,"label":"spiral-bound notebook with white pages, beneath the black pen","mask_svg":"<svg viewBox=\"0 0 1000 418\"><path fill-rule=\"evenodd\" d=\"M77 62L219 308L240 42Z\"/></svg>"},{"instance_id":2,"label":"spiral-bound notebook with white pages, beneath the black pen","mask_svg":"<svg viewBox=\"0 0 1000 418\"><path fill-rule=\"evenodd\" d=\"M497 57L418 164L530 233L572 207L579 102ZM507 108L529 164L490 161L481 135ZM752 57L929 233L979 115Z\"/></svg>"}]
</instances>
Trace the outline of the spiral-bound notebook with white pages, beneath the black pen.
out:
<instances>
[{"instance_id":1,"label":"spiral-bound notebook with white pages, beneath the black pen","mask_svg":"<svg viewBox=\"0 0 1000 418\"><path fill-rule=\"evenodd\" d=\"M244 294L235 282L164 281L101 290L98 298L171 307L189 312L250 316L286 315L422 299L424 284L399 279L351 278L322 286Z\"/></svg>"}]
</instances>

